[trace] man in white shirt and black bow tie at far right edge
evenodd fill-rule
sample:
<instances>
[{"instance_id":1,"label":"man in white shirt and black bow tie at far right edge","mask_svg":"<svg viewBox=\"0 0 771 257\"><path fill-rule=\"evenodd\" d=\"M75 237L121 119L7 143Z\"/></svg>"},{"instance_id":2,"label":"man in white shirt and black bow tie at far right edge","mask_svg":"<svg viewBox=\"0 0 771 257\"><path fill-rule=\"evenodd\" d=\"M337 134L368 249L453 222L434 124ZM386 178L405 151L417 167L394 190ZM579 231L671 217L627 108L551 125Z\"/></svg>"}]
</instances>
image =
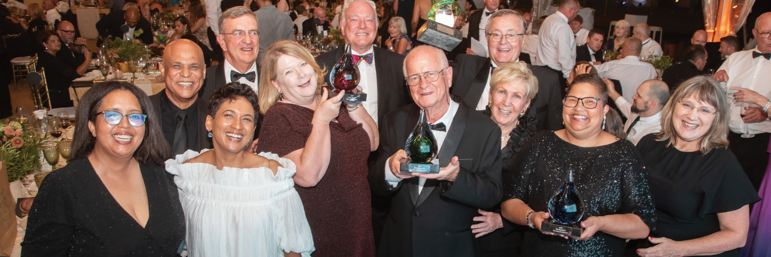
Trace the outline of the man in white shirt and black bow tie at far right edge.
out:
<instances>
[{"instance_id":1,"label":"man in white shirt and black bow tie at far right edge","mask_svg":"<svg viewBox=\"0 0 771 257\"><path fill-rule=\"evenodd\" d=\"M758 41L757 48L733 53L712 77L726 82L727 86L747 88L771 98L771 86L768 86L771 81L771 12L758 17L752 35ZM736 155L736 159L739 159L749 181L758 190L769 160L766 150L771 136L771 121L768 120L767 111L771 102L763 107L745 107L742 103L733 101L736 92L726 92L730 103L729 148ZM745 111L746 116L742 117L741 114L745 114ZM746 130L755 137L742 138L741 134Z\"/></svg>"}]
</instances>

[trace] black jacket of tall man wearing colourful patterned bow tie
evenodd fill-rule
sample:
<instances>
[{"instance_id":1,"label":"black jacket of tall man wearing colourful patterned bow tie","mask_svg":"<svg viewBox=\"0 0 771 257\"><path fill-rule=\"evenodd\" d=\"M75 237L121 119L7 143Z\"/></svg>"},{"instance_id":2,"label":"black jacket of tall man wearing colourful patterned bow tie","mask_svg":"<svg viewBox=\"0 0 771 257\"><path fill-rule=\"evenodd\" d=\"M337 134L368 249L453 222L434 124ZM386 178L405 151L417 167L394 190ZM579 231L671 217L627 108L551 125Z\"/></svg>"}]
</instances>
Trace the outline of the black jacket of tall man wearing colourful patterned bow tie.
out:
<instances>
[{"instance_id":1,"label":"black jacket of tall man wearing colourful patterned bow tie","mask_svg":"<svg viewBox=\"0 0 771 257\"><path fill-rule=\"evenodd\" d=\"M377 46L373 46L373 48L375 73L377 74L375 81L378 83L378 123L382 124L381 121L385 114L412 103L412 98L409 96L407 85L404 83L404 73L402 73L404 56ZM325 52L316 57L316 63L322 66L322 69L326 67L328 72L342 57L344 51L345 48L340 47ZM324 79L327 85L332 85L328 76L324 76Z\"/></svg>"}]
</instances>

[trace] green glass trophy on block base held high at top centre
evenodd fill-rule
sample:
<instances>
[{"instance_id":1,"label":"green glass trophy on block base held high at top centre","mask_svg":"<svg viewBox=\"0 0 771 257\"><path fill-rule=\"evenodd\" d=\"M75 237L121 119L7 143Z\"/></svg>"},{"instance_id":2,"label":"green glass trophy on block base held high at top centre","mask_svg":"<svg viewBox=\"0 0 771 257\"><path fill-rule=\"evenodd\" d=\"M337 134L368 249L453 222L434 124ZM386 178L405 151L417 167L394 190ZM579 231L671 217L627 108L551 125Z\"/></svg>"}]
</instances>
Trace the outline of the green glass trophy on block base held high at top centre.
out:
<instances>
[{"instance_id":1,"label":"green glass trophy on block base held high at top centre","mask_svg":"<svg viewBox=\"0 0 771 257\"><path fill-rule=\"evenodd\" d=\"M418 29L420 42L452 51L463 39L463 32L455 29L455 18L460 16L460 5L455 0L431 0L429 19Z\"/></svg>"}]
</instances>

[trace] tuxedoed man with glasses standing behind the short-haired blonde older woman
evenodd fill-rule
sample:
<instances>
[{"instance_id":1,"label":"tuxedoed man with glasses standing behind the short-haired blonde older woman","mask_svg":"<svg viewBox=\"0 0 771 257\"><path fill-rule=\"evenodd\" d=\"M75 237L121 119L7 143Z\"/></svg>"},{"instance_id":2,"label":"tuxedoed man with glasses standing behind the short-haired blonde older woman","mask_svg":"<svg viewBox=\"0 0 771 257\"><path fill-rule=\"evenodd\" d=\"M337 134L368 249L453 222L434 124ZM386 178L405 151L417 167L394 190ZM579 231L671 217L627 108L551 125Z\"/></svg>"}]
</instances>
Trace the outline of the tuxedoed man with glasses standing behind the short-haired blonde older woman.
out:
<instances>
[{"instance_id":1,"label":"tuxedoed man with glasses standing behind the short-haired blonde older woman","mask_svg":"<svg viewBox=\"0 0 771 257\"><path fill-rule=\"evenodd\" d=\"M500 13L499 13L500 12ZM476 13L476 12L475 12ZM509 9L500 10L490 15L488 28L494 34L524 34L524 19L517 12ZM487 36L487 47L490 58L474 55L458 55L453 69L452 93L460 96L466 104L475 110L485 110L490 101L490 74L495 66L502 65L520 58L520 49L526 36L501 36L498 42L493 42ZM538 93L527 109L529 117L535 116L538 130L562 129L562 102L560 99L557 74L540 66L527 65L538 79Z\"/></svg>"}]
</instances>

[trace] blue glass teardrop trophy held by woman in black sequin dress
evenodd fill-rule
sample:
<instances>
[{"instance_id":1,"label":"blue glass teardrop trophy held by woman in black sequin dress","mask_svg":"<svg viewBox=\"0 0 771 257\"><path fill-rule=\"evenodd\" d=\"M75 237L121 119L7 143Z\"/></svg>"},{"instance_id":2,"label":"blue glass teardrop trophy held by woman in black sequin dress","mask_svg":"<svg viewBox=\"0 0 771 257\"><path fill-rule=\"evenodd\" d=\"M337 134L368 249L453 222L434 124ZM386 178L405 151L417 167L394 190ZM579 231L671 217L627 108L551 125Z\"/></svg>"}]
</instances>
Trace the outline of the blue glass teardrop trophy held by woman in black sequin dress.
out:
<instances>
[{"instance_id":1,"label":"blue glass teardrop trophy held by woman in black sequin dress","mask_svg":"<svg viewBox=\"0 0 771 257\"><path fill-rule=\"evenodd\" d=\"M540 231L558 235L567 235L572 238L580 238L581 217L584 216L584 201L578 195L573 184L573 171L568 175L567 181L549 200L549 215L551 221L544 221L540 225Z\"/></svg>"}]
</instances>

